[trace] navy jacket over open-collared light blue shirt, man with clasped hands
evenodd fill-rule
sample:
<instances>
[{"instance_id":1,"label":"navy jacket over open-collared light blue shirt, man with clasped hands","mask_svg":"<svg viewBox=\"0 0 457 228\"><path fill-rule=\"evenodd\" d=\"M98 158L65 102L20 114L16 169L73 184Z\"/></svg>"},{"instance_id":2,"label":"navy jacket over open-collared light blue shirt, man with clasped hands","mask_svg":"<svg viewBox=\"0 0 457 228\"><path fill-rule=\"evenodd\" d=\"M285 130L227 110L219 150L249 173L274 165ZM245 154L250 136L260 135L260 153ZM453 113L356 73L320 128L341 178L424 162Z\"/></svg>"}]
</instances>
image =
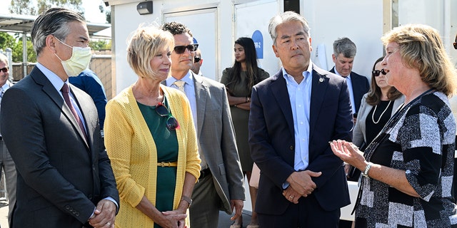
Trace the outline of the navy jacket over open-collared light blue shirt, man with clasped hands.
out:
<instances>
[{"instance_id":1,"label":"navy jacket over open-collared light blue shirt, man with clasped hands","mask_svg":"<svg viewBox=\"0 0 457 228\"><path fill-rule=\"evenodd\" d=\"M320 206L335 210L349 204L343 162L333 155L328 141L351 140L352 113L343 78L313 65L310 107L309 165L322 172L313 177L313 195ZM292 204L282 185L293 170L295 138L286 80L282 71L253 87L249 115L251 156L261 170L256 212L283 214ZM299 202L301 203L301 202Z\"/></svg>"}]
</instances>

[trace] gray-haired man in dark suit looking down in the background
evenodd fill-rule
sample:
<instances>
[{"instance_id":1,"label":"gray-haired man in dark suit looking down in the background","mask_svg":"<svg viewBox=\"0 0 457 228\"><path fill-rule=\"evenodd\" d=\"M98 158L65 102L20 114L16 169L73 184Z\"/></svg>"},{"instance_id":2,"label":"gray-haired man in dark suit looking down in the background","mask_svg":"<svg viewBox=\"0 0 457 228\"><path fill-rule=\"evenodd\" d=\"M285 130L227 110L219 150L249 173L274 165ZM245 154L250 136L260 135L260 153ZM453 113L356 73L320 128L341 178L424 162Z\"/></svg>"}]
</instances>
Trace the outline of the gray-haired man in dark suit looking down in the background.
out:
<instances>
[{"instance_id":1,"label":"gray-haired man in dark suit looking down in the background","mask_svg":"<svg viewBox=\"0 0 457 228\"><path fill-rule=\"evenodd\" d=\"M358 108L360 108L363 94L368 93L370 89L368 79L352 71L356 51L356 43L353 43L353 41L346 37L338 38L333 42L333 54L331 54L331 58L335 66L330 70L331 73L346 78L351 98L352 113L354 114L354 124L357 120Z\"/></svg>"}]
</instances>

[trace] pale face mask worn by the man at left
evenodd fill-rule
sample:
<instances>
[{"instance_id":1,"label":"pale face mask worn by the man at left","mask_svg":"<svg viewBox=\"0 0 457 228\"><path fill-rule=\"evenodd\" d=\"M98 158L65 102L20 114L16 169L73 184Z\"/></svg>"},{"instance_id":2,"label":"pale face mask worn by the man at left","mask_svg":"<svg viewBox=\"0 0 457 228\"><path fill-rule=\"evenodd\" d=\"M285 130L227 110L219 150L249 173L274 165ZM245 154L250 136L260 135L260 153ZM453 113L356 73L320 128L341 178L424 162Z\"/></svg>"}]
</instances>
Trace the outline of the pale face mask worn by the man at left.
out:
<instances>
[{"instance_id":1,"label":"pale face mask worn by the man at left","mask_svg":"<svg viewBox=\"0 0 457 228\"><path fill-rule=\"evenodd\" d=\"M81 47L71 47L68 44L60 41L58 38L56 38L59 42L63 43L65 46L68 46L69 48L73 48L73 52L71 53L71 58L69 58L66 61L62 61L59 56L57 56L56 53L54 55L57 56L57 58L60 59L62 66L64 67L64 70L68 76L78 76L79 73L82 71L86 70L86 68L89 66L89 63L91 62L91 48L81 48Z\"/></svg>"}]
</instances>

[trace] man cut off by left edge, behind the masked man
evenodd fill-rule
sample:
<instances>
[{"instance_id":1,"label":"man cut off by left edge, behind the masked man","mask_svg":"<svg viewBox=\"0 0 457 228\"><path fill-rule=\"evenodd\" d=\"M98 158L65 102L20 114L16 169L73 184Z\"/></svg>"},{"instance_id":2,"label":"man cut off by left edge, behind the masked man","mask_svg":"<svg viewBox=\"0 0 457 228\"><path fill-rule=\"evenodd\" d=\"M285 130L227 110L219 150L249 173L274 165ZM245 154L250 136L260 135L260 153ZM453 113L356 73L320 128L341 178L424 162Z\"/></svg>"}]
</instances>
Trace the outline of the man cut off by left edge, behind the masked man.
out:
<instances>
[{"instance_id":1,"label":"man cut off by left edge, behind the masked man","mask_svg":"<svg viewBox=\"0 0 457 228\"><path fill-rule=\"evenodd\" d=\"M3 94L7 89L13 86L9 80L9 64L8 57L0 53L0 102ZM1 108L1 105L0 105ZM6 192L8 194L8 223L11 221L11 212L13 212L14 204L16 203L16 165L9 155L5 142L0 135L0 172L1 169L5 172ZM1 178L1 176L0 176Z\"/></svg>"}]
</instances>

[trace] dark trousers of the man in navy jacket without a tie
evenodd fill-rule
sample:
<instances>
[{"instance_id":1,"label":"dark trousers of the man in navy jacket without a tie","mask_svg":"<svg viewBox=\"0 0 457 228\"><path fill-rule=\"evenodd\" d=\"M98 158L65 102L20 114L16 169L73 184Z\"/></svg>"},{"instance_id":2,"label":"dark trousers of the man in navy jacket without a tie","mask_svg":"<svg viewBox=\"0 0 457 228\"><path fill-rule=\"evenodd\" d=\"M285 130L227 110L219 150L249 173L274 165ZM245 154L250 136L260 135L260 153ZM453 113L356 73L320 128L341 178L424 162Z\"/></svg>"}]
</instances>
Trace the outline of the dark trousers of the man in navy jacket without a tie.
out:
<instances>
[{"instance_id":1,"label":"dark trousers of the man in navy jacket without a tie","mask_svg":"<svg viewBox=\"0 0 457 228\"><path fill-rule=\"evenodd\" d=\"M331 212L323 210L316 197L310 195L306 198L301 197L298 200L298 204L291 203L283 214L258 213L258 224L261 228L336 228L338 227L340 215L340 209Z\"/></svg>"}]
</instances>

